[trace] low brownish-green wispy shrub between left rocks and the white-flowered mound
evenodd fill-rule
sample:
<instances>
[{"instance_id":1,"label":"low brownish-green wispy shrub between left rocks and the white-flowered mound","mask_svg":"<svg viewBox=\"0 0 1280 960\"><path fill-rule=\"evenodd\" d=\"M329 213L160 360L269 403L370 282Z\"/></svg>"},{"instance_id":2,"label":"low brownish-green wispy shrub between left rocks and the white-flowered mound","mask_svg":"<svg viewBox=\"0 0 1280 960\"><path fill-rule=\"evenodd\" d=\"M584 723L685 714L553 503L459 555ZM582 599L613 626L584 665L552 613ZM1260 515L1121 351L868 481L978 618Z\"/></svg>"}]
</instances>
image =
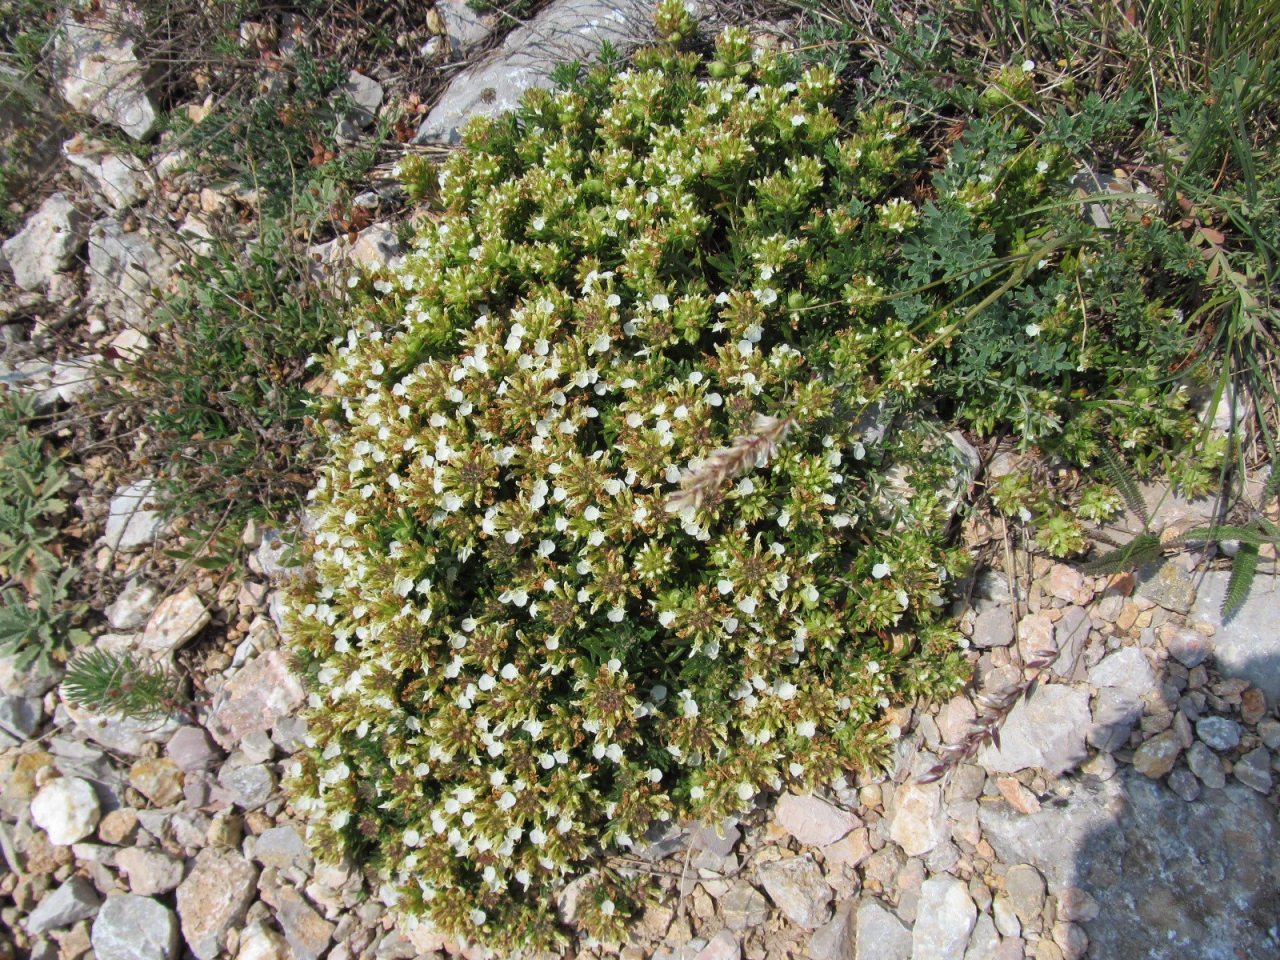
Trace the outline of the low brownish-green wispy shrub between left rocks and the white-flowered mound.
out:
<instances>
[{"instance_id":1,"label":"low brownish-green wispy shrub between left rocks and the white-flowered mound","mask_svg":"<svg viewBox=\"0 0 1280 960\"><path fill-rule=\"evenodd\" d=\"M102 403L150 428L143 466L170 513L243 521L301 500L315 447L307 357L340 330L334 296L308 271L276 221L247 247L219 242L183 265L154 348L120 365Z\"/></svg>"}]
</instances>

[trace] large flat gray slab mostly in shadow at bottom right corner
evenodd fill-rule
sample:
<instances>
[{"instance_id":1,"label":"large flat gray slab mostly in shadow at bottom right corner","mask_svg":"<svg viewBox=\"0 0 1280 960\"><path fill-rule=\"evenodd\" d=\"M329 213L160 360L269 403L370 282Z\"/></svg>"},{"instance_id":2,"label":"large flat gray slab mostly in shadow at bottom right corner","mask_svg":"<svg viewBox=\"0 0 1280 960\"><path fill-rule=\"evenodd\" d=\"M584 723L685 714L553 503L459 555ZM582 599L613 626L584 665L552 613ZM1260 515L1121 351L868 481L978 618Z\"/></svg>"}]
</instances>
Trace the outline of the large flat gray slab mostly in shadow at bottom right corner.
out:
<instances>
[{"instance_id":1,"label":"large flat gray slab mostly in shadow at bottom right corner","mask_svg":"<svg viewBox=\"0 0 1280 960\"><path fill-rule=\"evenodd\" d=\"M1187 804L1121 771L1079 781L1032 817L983 804L979 818L1001 860L1036 867L1056 896L1080 888L1101 905L1085 922L1096 956L1162 956L1170 945L1179 960L1267 956L1280 827L1247 787L1212 796Z\"/></svg>"}]
</instances>

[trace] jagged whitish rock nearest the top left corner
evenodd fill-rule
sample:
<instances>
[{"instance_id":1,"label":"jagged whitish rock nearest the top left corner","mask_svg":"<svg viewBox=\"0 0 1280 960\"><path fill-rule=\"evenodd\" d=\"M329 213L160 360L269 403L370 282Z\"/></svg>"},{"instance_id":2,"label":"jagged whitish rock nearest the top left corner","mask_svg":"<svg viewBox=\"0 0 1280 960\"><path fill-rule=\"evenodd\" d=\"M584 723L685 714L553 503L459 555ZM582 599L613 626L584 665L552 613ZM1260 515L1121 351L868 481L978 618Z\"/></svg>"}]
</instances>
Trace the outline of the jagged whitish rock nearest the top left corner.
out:
<instances>
[{"instance_id":1,"label":"jagged whitish rock nearest the top left corner","mask_svg":"<svg viewBox=\"0 0 1280 960\"><path fill-rule=\"evenodd\" d=\"M54 72L73 109L146 140L157 113L131 33L114 4L83 23L68 15L54 40Z\"/></svg>"}]
</instances>

